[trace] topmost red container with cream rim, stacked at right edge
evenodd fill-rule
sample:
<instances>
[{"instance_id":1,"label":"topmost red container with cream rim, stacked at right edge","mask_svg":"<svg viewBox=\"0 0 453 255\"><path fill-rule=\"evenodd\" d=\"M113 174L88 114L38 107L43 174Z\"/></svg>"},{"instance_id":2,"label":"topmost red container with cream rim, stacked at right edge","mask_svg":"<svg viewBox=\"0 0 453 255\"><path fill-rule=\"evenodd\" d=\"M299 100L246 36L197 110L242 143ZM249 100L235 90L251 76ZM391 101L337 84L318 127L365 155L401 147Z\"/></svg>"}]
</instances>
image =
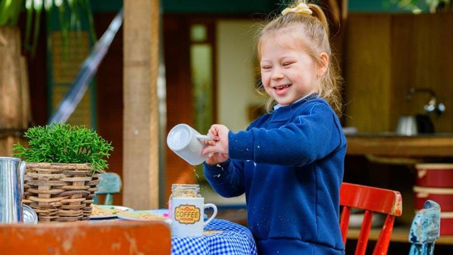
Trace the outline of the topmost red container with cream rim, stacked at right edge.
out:
<instances>
[{"instance_id":1,"label":"topmost red container with cream rim, stacked at right edge","mask_svg":"<svg viewBox=\"0 0 453 255\"><path fill-rule=\"evenodd\" d=\"M453 188L453 164L417 164L415 169L417 186Z\"/></svg>"}]
</instances>

